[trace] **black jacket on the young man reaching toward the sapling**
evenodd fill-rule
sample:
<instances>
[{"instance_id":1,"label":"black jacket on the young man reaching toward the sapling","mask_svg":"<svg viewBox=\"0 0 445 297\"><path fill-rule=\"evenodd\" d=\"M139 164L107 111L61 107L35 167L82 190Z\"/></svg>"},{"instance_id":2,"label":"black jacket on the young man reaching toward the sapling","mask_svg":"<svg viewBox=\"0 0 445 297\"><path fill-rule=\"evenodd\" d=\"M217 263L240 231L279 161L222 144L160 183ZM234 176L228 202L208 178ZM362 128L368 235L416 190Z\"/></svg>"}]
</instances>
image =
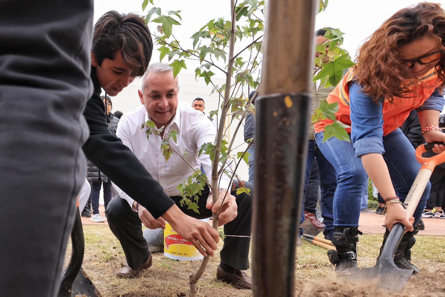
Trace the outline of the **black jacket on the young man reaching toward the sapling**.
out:
<instances>
[{"instance_id":1,"label":"black jacket on the young man reaching toward the sapling","mask_svg":"<svg viewBox=\"0 0 445 297\"><path fill-rule=\"evenodd\" d=\"M93 96L88 100L84 116L89 126L89 138L83 151L110 180L131 198L145 207L155 218L164 214L174 202L164 193L138 158L108 127L101 86L96 68L91 67Z\"/></svg>"}]
</instances>

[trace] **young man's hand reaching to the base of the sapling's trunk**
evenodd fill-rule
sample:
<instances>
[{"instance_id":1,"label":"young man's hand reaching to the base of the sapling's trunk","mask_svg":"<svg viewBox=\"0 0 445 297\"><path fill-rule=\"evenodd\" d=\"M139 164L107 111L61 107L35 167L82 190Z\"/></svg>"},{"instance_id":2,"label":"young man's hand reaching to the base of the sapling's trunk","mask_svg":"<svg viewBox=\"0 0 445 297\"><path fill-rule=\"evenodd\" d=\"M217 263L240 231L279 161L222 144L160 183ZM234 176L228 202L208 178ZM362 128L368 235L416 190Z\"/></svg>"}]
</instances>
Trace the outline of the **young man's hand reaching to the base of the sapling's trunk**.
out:
<instances>
[{"instance_id":1,"label":"young man's hand reaching to the base of the sapling's trunk","mask_svg":"<svg viewBox=\"0 0 445 297\"><path fill-rule=\"evenodd\" d=\"M174 231L190 241L203 256L207 254L214 256L214 251L218 249L219 232L207 222L185 215L176 205L170 207L162 217L169 222Z\"/></svg>"}]
</instances>

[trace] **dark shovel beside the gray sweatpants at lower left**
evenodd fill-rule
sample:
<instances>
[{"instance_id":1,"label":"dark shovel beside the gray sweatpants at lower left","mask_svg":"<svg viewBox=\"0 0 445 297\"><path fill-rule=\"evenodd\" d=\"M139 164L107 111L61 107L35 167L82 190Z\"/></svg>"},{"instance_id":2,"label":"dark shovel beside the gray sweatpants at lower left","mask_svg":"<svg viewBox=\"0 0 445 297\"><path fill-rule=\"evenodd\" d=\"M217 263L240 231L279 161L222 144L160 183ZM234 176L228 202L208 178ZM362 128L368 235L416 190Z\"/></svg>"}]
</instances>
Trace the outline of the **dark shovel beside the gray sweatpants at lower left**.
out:
<instances>
[{"instance_id":1,"label":"dark shovel beside the gray sweatpants at lower left","mask_svg":"<svg viewBox=\"0 0 445 297\"><path fill-rule=\"evenodd\" d=\"M85 270L82 269L84 252L85 239L79 212L79 200L77 200L76 218L71 232L71 259L62 277L57 297L102 297Z\"/></svg>"}]
</instances>

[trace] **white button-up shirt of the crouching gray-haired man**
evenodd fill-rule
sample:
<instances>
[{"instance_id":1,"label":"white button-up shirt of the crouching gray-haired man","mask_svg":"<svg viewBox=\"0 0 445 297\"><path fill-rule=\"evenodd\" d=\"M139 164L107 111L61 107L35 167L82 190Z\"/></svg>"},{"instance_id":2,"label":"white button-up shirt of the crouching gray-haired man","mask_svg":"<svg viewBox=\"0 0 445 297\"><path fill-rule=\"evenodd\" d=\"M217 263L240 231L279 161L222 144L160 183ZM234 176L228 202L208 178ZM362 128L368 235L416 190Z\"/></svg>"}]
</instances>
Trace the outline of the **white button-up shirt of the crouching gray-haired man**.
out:
<instances>
[{"instance_id":1,"label":"white button-up shirt of the crouching gray-haired man","mask_svg":"<svg viewBox=\"0 0 445 297\"><path fill-rule=\"evenodd\" d=\"M150 134L149 140L145 133L146 128L141 130L141 124L150 120L145 106L141 105L134 110L125 113L117 125L117 137L133 151L142 165L156 179L169 196L178 196L179 190L176 188L182 181L193 175L194 171L176 153L170 155L168 161L165 160L161 151L162 138L156 134ZM180 102L170 124L164 128L164 135L170 131L178 132L176 143L170 138L170 146L184 155L184 159L193 166L200 169L201 165L210 179L212 163L209 155L204 152L198 157L201 145L206 142L214 142L216 129L205 114L199 110L194 110L188 102ZM227 189L230 179L225 174L221 174L218 187ZM130 207L133 206L131 197L115 186L121 198L128 201Z\"/></svg>"}]
</instances>

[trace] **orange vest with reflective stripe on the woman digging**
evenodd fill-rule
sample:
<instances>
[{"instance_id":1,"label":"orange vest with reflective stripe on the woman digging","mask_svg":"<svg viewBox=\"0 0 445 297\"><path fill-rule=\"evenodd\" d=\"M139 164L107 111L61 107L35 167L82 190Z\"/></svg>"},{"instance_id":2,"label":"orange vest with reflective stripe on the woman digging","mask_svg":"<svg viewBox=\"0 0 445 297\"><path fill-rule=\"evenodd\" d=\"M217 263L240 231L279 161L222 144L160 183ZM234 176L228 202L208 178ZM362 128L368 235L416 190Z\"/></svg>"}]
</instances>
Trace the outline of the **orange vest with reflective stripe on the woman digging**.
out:
<instances>
[{"instance_id":1,"label":"orange vest with reflective stripe on the woman digging","mask_svg":"<svg viewBox=\"0 0 445 297\"><path fill-rule=\"evenodd\" d=\"M351 133L348 83L354 80L353 71L354 69L351 67L326 99L328 103L338 102L339 109L336 112L336 119L349 126L346 129L348 133ZM392 103L385 99L383 102L383 135L402 126L411 110L422 106L439 85L441 82L433 68L424 77L421 77L421 82L417 86L412 86L413 92L407 94L409 98L395 97ZM324 127L332 122L329 119L321 120L315 124L315 132L324 131Z\"/></svg>"}]
</instances>

